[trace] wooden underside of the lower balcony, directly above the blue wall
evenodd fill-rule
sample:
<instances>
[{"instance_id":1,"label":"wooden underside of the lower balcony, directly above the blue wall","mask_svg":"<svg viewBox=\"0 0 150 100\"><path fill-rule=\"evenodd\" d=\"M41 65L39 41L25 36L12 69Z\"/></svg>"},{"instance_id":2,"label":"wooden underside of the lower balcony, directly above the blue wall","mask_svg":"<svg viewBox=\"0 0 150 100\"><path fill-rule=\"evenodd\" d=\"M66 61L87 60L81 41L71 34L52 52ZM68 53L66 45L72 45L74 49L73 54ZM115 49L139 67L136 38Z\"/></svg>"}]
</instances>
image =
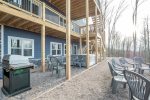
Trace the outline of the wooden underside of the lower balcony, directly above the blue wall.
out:
<instances>
[{"instance_id":1,"label":"wooden underside of the lower balcony, directly above the blue wall","mask_svg":"<svg viewBox=\"0 0 150 100\"><path fill-rule=\"evenodd\" d=\"M0 24L41 34L40 24L4 12L0 12ZM62 31L50 27L46 27L45 31L46 35L62 39L66 38L66 34ZM71 38L73 40L78 40L79 36L72 32Z\"/></svg>"}]
</instances>

